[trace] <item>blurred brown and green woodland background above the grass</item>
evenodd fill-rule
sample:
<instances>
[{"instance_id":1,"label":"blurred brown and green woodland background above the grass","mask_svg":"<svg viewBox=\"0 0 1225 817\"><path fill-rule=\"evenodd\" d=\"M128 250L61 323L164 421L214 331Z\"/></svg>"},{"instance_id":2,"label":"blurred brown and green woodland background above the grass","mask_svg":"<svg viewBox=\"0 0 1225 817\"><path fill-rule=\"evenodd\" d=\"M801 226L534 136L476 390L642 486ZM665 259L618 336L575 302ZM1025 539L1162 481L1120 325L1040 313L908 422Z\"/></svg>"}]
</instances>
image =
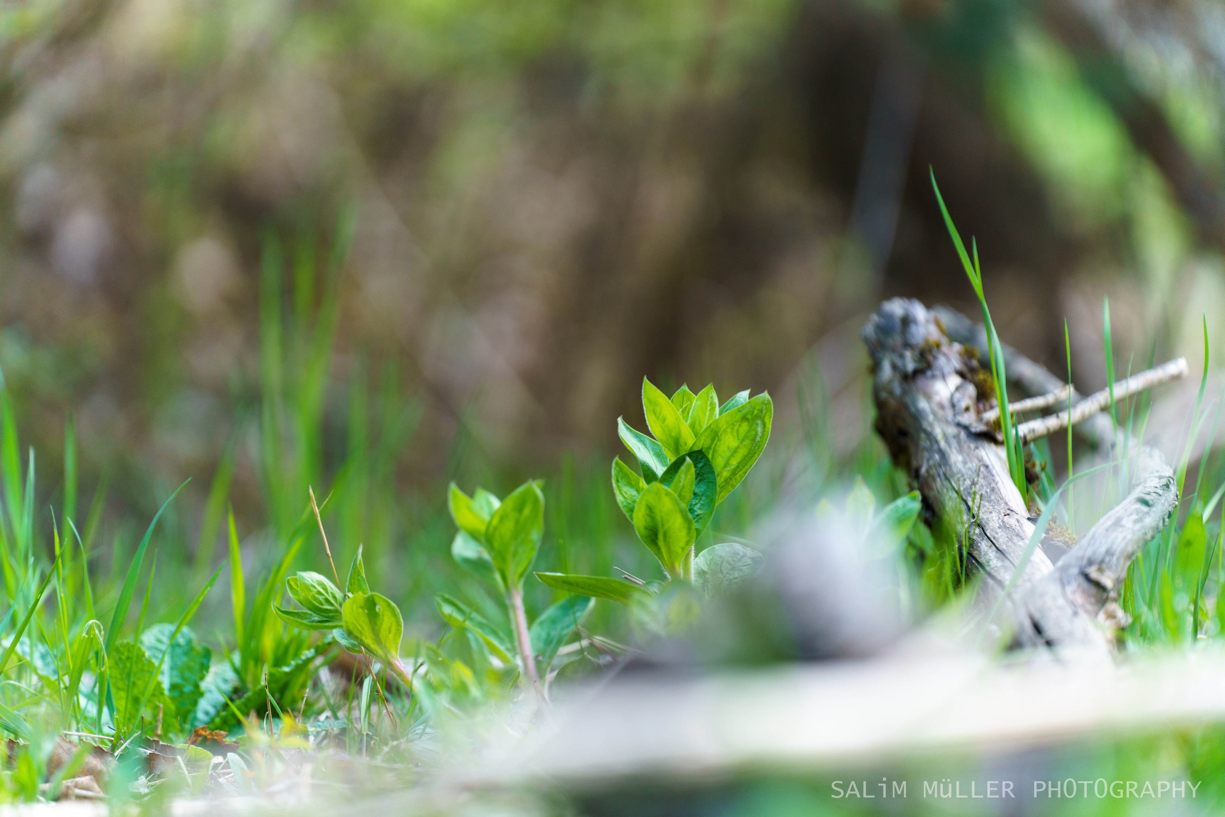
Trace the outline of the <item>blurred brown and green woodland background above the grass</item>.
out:
<instances>
[{"instance_id":1,"label":"blurred brown and green woodland background above the grass","mask_svg":"<svg viewBox=\"0 0 1225 817\"><path fill-rule=\"evenodd\" d=\"M350 207L331 377L393 372L415 396L398 468L421 484L461 426L495 462L610 451L643 375L778 392L816 348L854 391L881 298L971 306L929 167L1001 334L1062 374L1066 317L1082 388L1105 382L1104 295L1120 369L1198 366L1202 314L1225 342L1208 0L33 0L0 18L0 366L48 479L71 412L82 473L141 507L189 475L202 496L256 410L261 247L325 258ZM846 434L866 427L853 405Z\"/></svg>"}]
</instances>

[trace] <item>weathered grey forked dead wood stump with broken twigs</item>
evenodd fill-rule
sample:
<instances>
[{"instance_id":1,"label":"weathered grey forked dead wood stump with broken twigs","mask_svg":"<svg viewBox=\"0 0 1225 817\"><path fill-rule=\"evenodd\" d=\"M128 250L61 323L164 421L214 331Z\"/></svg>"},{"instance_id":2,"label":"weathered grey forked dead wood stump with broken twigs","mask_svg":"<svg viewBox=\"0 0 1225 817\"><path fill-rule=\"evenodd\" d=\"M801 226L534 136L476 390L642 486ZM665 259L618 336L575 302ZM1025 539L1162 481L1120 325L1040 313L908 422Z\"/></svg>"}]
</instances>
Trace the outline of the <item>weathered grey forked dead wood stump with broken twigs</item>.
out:
<instances>
[{"instance_id":1,"label":"weathered grey forked dead wood stump with broken twigs","mask_svg":"<svg viewBox=\"0 0 1225 817\"><path fill-rule=\"evenodd\" d=\"M981 336L981 327L951 310L937 315L900 298L882 304L862 332L872 358L876 430L927 508L949 529L963 532L963 557L982 579L980 601L991 608L1023 561L1034 524L990 423L998 413L993 391L969 345L985 348ZM1013 387L1029 396L1058 392L1067 399L1060 391L1066 385L1039 364L1012 349L1005 349L1005 360ZM1116 385L1116 393L1186 371L1180 358ZM1080 423L1078 430L1099 452L1126 461L1131 492L1057 563L1034 549L1001 605L1011 619L1014 647L1109 659L1115 633L1126 623L1117 599L1127 566L1177 506L1174 473L1163 456L1118 435L1110 419L1096 413L1105 405L1101 394L1073 393L1072 421ZM1030 440L1062 427L1066 412L1062 420L1052 415L1020 426Z\"/></svg>"}]
</instances>

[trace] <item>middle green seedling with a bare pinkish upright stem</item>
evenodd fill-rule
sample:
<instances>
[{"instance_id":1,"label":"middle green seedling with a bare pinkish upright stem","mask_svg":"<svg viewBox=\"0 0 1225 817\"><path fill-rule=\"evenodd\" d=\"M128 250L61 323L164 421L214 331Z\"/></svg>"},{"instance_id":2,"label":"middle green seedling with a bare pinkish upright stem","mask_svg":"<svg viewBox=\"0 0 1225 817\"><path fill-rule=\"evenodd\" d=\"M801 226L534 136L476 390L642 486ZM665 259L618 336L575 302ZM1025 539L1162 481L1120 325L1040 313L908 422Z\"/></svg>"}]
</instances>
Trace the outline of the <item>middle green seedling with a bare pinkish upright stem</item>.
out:
<instances>
[{"instance_id":1,"label":"middle green seedling with a bare pinkish upright stem","mask_svg":"<svg viewBox=\"0 0 1225 817\"><path fill-rule=\"evenodd\" d=\"M545 699L540 672L548 677L559 648L590 610L592 599L589 594L562 599L528 626L523 579L532 570L544 534L540 483L529 480L503 500L481 488L468 496L452 483L447 505L459 528L451 543L451 555L462 567L494 584L506 600L514 649L496 627L446 594L437 595L439 612L452 627L473 633L500 663L516 663L517 653L523 677Z\"/></svg>"}]
</instances>

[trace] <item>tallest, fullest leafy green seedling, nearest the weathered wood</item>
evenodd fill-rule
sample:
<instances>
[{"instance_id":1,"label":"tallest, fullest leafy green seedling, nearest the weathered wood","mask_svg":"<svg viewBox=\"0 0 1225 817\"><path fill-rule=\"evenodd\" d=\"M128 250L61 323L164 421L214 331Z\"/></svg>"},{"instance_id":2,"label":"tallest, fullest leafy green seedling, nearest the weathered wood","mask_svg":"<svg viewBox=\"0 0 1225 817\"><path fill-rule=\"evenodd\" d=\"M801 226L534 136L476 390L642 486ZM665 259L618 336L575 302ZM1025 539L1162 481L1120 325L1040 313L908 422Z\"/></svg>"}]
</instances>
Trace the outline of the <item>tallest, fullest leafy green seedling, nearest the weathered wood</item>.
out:
<instances>
[{"instance_id":1,"label":"tallest, fullest leafy green seedling, nearest the weathered wood","mask_svg":"<svg viewBox=\"0 0 1225 817\"><path fill-rule=\"evenodd\" d=\"M735 543L695 554L697 539L715 507L748 474L769 440L774 404L769 394L739 392L719 404L714 385L697 394L681 386L669 398L642 381L642 408L652 435L617 419L621 441L638 462L641 475L612 459L612 491L638 539L659 560L671 581L697 583L709 594L751 576L760 555ZM601 576L537 573L549 587L633 605L657 595L660 582L631 582Z\"/></svg>"}]
</instances>

